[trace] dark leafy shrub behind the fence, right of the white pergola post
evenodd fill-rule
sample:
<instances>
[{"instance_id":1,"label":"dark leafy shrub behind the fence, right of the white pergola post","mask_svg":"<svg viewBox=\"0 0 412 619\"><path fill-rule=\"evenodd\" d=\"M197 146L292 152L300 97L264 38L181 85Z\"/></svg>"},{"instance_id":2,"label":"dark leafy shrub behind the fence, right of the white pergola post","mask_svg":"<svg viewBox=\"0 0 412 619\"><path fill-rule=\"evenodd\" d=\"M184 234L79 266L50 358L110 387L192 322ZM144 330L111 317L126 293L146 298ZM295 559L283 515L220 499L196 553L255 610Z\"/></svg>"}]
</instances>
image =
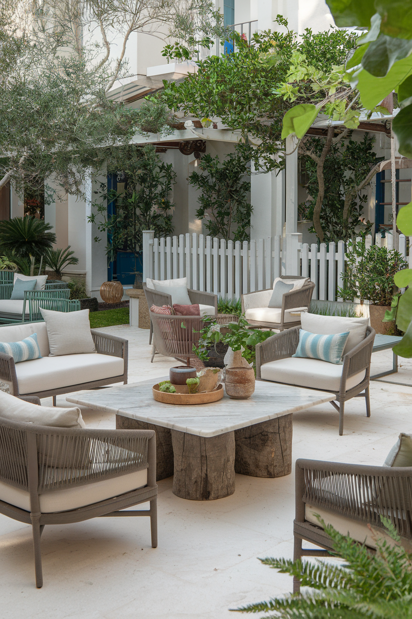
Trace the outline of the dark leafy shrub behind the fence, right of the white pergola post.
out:
<instances>
[{"instance_id":1,"label":"dark leafy shrub behind the fence, right of the white pergola post","mask_svg":"<svg viewBox=\"0 0 412 619\"><path fill-rule=\"evenodd\" d=\"M364 134L359 142L351 139L351 132L346 137L345 142L332 141L322 172L324 196L319 220L322 241L326 243L348 241L359 234L363 207L368 200L368 194L363 193L366 187L364 180L370 178L370 172L377 162L376 153L372 150L373 137ZM321 157L324 141L320 137L307 137L302 140L303 147L300 148L303 169L308 176L305 187L309 200L305 204L305 219L309 220L314 219L319 194L316 158ZM348 204L348 217L343 215L345 204ZM366 223L365 229L369 230L370 224ZM317 233L317 230L313 226L309 232Z\"/></svg>"}]
</instances>

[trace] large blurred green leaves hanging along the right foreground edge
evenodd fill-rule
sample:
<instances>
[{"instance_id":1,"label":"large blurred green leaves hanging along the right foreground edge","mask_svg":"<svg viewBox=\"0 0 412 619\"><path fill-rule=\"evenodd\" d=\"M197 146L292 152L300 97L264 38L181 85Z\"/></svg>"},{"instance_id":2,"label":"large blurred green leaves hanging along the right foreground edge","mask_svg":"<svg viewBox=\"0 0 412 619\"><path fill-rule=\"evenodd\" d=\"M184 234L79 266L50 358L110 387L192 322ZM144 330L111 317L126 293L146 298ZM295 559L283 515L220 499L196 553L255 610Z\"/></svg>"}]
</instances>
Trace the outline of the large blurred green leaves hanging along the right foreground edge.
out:
<instances>
[{"instance_id":1,"label":"large blurred green leaves hanging along the right foreground edge","mask_svg":"<svg viewBox=\"0 0 412 619\"><path fill-rule=\"evenodd\" d=\"M351 86L358 89L361 104L374 110L395 91L400 106L392 122L399 142L399 152L412 157L412 1L364 0L342 2L327 0L338 27L364 28L358 47L346 65ZM288 131L288 129L287 129ZM296 134L297 135L297 134ZM397 226L406 236L412 235L412 202L397 217ZM407 288L397 306L397 327L405 335L393 352L412 357L412 269L395 275L395 284Z\"/></svg>"}]
</instances>

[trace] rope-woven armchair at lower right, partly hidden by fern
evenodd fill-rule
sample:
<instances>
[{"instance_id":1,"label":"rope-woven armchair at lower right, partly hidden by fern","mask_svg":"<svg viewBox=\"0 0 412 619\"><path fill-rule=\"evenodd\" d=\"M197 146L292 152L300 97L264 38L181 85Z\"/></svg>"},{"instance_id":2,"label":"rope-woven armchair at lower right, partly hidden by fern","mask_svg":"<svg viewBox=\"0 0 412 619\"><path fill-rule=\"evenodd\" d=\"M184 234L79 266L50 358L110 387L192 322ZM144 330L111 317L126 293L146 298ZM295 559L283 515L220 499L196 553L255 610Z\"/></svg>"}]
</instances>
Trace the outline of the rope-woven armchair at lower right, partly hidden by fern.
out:
<instances>
[{"instance_id":1,"label":"rope-woven armchair at lower right, partly hidden by fern","mask_svg":"<svg viewBox=\"0 0 412 619\"><path fill-rule=\"evenodd\" d=\"M332 550L332 540L315 514L372 552L376 544L368 524L378 537L393 543L380 520L384 516L397 529L405 549L412 552L412 467L299 459L295 472L294 560L327 556ZM302 540L324 550L302 548ZM293 592L299 589L300 581L293 578Z\"/></svg>"}]
</instances>

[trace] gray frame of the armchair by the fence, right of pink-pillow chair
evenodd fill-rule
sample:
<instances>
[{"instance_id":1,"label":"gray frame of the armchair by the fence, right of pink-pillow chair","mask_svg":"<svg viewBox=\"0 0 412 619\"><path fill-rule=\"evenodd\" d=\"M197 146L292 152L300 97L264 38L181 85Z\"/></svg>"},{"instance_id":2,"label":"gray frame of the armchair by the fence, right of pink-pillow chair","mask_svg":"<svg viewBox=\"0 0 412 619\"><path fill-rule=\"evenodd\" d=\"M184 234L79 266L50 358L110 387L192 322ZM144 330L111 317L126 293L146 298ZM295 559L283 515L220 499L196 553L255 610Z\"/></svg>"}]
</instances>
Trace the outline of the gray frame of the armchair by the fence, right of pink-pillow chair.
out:
<instances>
[{"instance_id":1,"label":"gray frame of the armchair by the fence, right of pink-pillow chair","mask_svg":"<svg viewBox=\"0 0 412 619\"><path fill-rule=\"evenodd\" d=\"M306 279L306 277L302 277L301 275L281 275L280 279ZM298 290L291 290L290 292L286 292L282 297L282 308L280 314L280 322L262 322L256 320L249 320L248 323L251 326L259 327L267 327L267 329L279 329L279 331L284 331L284 329L291 329L292 327L296 327L300 325L300 319L295 320L293 322L285 322L285 312L288 309L294 308L302 308L306 307L309 310L311 305L312 295L314 291L314 282L309 282L306 286L302 288L298 288ZM256 301L252 301L254 303L258 300L258 295L261 292L269 292L272 288L266 288L265 290L259 290L257 292L250 292L245 295L242 295L242 314L245 313L246 309L248 309L248 301L252 301L253 295L255 295ZM253 307L264 307L263 305L253 305Z\"/></svg>"}]
</instances>

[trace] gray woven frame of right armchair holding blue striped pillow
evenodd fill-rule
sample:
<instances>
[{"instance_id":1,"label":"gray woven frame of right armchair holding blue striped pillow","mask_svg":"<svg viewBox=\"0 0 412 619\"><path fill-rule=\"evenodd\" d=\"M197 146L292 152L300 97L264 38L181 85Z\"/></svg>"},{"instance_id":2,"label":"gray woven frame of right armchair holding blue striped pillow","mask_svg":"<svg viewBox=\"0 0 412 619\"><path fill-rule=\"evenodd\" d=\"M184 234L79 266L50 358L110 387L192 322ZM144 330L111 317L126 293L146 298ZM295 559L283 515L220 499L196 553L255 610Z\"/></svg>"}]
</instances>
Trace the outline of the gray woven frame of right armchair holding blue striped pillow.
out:
<instances>
[{"instance_id":1,"label":"gray woven frame of right armchair holding blue striped pillow","mask_svg":"<svg viewBox=\"0 0 412 619\"><path fill-rule=\"evenodd\" d=\"M277 361L286 359L295 354L299 343L299 328L293 327L272 335L261 344L256 345L256 378L261 378L261 366L269 361ZM371 355L373 342L375 339L375 331L372 327L367 327L364 340L352 348L346 355L343 355L342 378L340 379L339 391L330 391L335 393L335 401L330 402L339 413L339 434L343 434L343 412L345 402L352 397L364 397L366 402L366 417L371 417L371 404L369 400L369 379L371 375ZM326 363L326 361L325 361ZM347 389L347 379L353 374L358 374L362 370L366 370L365 377L361 383ZM305 387L309 389L309 387ZM316 389L316 387L314 387ZM328 391L322 389L322 391Z\"/></svg>"}]
</instances>

